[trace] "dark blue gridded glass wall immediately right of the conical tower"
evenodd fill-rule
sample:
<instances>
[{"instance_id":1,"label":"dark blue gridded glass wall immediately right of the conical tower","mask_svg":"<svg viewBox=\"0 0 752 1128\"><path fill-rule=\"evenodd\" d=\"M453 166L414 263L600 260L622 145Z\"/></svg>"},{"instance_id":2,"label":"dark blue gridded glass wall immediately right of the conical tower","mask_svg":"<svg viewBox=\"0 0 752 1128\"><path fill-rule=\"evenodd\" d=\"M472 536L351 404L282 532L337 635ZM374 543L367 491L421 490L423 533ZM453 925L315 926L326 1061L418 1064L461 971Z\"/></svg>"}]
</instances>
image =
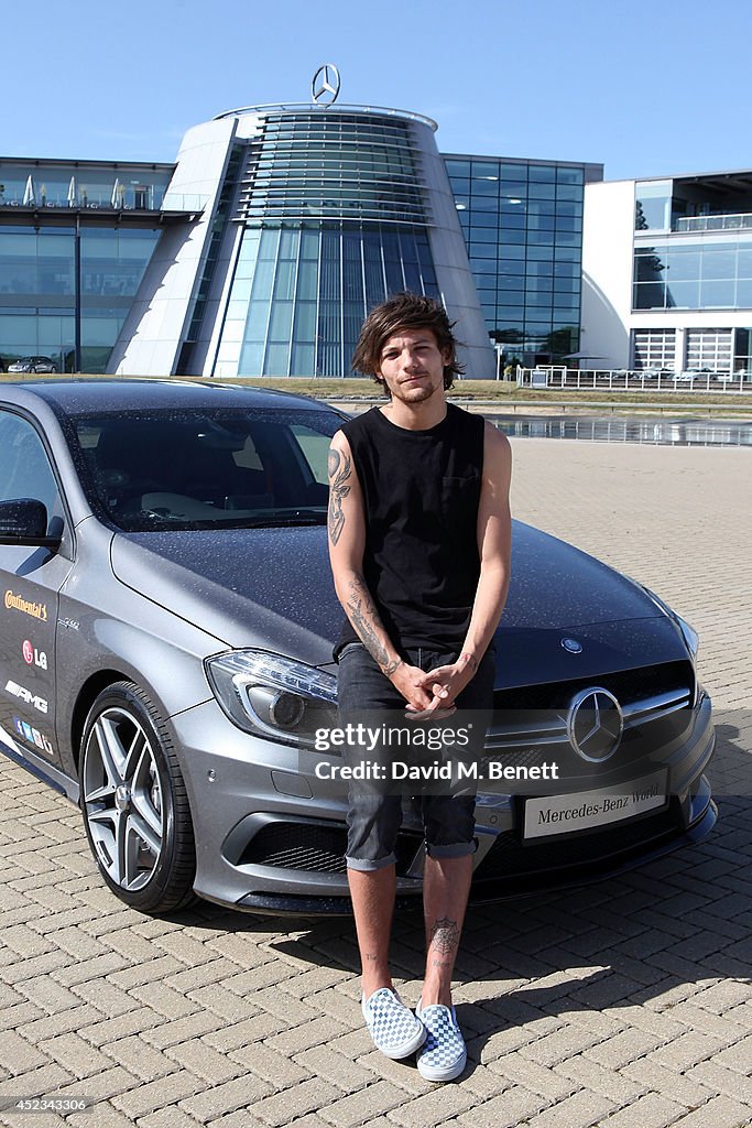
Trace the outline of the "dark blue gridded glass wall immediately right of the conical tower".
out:
<instances>
[{"instance_id":1,"label":"dark blue gridded glass wall immediately right of the conical tower","mask_svg":"<svg viewBox=\"0 0 752 1128\"><path fill-rule=\"evenodd\" d=\"M463 156L444 164L488 333L505 361L576 352L589 167Z\"/></svg>"}]
</instances>

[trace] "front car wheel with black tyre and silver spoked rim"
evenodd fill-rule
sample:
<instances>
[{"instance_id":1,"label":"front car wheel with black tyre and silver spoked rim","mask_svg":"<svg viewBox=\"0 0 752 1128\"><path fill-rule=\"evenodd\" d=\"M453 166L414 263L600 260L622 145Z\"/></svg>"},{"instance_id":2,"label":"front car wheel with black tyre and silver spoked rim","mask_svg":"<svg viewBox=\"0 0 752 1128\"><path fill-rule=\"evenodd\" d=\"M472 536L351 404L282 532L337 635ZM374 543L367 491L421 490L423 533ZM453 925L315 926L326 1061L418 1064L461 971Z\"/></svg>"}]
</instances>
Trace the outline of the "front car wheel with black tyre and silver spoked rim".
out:
<instances>
[{"instance_id":1,"label":"front car wheel with black tyre and silver spoked rim","mask_svg":"<svg viewBox=\"0 0 752 1128\"><path fill-rule=\"evenodd\" d=\"M99 872L142 913L194 900L196 852L183 773L167 725L131 681L99 694L83 726L81 812Z\"/></svg>"}]
</instances>

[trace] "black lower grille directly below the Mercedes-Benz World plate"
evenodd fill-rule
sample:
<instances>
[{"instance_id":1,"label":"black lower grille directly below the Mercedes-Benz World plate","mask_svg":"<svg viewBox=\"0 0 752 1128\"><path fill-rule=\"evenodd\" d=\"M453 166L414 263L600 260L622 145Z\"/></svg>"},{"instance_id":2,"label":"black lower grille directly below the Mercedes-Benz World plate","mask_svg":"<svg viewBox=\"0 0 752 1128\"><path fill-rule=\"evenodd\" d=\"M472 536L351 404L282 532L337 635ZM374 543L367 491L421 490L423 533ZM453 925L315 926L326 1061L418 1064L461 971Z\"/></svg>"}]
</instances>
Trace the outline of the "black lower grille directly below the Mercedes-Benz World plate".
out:
<instances>
[{"instance_id":1,"label":"black lower grille directly below the Mercedes-Benz World plate","mask_svg":"<svg viewBox=\"0 0 752 1128\"><path fill-rule=\"evenodd\" d=\"M506 830L494 840L476 871L475 881L602 863L614 854L644 851L653 840L673 837L682 826L679 803L672 799L663 811L598 830L557 835L554 840L523 841L519 830Z\"/></svg>"}]
</instances>

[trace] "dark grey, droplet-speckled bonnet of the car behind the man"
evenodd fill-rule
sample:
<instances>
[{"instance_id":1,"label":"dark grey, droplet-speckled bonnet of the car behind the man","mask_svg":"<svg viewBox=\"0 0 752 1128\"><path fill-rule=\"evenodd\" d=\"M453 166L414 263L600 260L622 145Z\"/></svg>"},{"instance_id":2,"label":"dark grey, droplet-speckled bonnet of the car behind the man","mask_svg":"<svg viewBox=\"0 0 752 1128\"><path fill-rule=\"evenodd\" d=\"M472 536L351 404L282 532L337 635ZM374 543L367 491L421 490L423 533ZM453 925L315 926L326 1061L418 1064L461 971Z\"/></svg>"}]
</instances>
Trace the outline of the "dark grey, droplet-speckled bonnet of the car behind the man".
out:
<instances>
[{"instance_id":1,"label":"dark grey, droplet-speckled bonnet of the car behind the man","mask_svg":"<svg viewBox=\"0 0 752 1128\"><path fill-rule=\"evenodd\" d=\"M112 566L122 583L228 647L260 646L322 666L331 661L343 623L326 538L322 527L117 534ZM646 620L642 627L639 620ZM530 662L540 673L536 640L548 640L549 650L555 635L558 656L563 633L610 635L611 664L618 667L627 637L639 651L656 620L667 624L669 636L680 643L671 620L637 584L572 545L514 522L512 582L496 645L507 654L524 650L517 675ZM617 637L614 623L631 626ZM521 634L524 646L514 641ZM599 653L602 661L601 646ZM507 670L504 681L510 679Z\"/></svg>"}]
</instances>

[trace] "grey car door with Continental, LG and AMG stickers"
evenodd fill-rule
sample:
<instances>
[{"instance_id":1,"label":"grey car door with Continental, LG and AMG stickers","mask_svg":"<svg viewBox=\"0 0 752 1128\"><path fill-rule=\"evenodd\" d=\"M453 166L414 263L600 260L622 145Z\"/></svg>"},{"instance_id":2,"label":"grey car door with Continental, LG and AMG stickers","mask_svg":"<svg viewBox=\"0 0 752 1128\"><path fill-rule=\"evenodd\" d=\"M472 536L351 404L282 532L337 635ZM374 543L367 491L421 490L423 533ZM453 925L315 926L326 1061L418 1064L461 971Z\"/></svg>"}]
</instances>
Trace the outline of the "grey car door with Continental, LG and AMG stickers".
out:
<instances>
[{"instance_id":1,"label":"grey car door with Continental, LG and AMG stickers","mask_svg":"<svg viewBox=\"0 0 752 1128\"><path fill-rule=\"evenodd\" d=\"M0 405L0 501L33 497L47 510L56 552L0 545L0 741L59 764L55 739L57 592L71 569L61 491L34 422Z\"/></svg>"}]
</instances>

